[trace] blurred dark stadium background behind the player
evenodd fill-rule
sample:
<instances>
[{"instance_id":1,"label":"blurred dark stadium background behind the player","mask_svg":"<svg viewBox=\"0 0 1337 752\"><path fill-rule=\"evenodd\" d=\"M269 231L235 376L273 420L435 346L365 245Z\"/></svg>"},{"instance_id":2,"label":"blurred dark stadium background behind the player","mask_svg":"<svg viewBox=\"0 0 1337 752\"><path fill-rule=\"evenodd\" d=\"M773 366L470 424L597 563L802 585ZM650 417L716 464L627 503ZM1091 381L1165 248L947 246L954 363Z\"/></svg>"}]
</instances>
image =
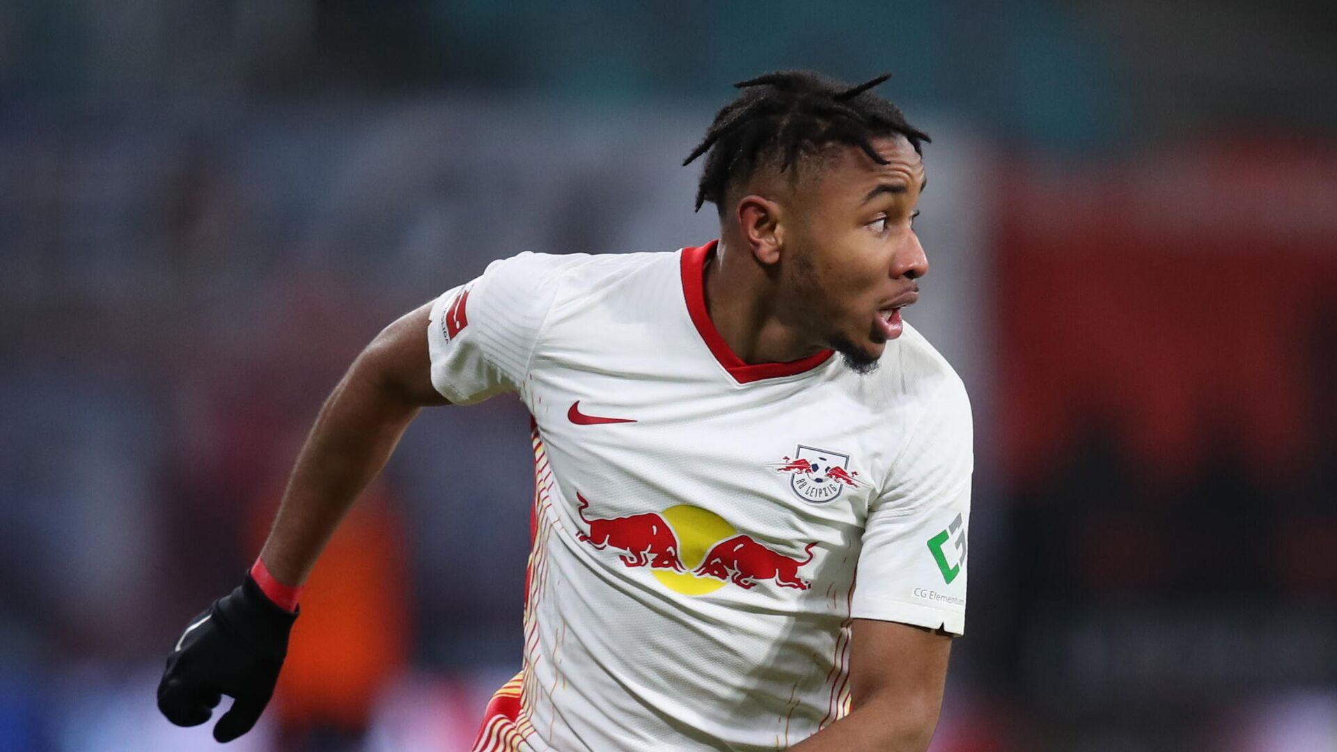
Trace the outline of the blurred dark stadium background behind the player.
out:
<instances>
[{"instance_id":1,"label":"blurred dark stadium background behind the player","mask_svg":"<svg viewBox=\"0 0 1337 752\"><path fill-rule=\"evenodd\" d=\"M963 373L969 629L936 752L1337 749L1337 23L1322 3L0 7L0 749L154 707L376 332L496 257L714 237L730 83L935 142L908 318ZM424 415L245 751L449 751L520 660L513 399Z\"/></svg>"}]
</instances>

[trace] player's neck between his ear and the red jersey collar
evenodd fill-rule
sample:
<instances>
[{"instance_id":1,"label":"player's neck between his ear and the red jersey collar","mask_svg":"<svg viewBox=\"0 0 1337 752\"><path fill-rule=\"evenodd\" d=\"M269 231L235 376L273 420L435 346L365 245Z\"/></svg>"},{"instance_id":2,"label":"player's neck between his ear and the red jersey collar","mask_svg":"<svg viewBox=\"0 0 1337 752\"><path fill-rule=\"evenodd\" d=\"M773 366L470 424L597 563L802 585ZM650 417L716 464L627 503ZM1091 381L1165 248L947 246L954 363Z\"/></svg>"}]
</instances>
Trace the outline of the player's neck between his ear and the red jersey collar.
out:
<instances>
[{"instance_id":1,"label":"player's neck between his ear and the red jersey collar","mask_svg":"<svg viewBox=\"0 0 1337 752\"><path fill-rule=\"evenodd\" d=\"M706 313L743 363L787 363L824 348L778 310L779 289L741 244L719 240L706 264Z\"/></svg>"}]
</instances>

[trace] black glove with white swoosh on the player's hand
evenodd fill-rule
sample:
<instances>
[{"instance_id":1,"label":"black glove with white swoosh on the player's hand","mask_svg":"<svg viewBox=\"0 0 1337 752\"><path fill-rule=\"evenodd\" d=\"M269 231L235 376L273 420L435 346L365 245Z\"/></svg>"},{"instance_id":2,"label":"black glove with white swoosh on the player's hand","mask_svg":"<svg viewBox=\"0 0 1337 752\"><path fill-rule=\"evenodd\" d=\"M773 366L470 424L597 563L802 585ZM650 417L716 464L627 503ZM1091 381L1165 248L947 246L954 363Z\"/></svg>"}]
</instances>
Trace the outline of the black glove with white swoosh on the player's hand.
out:
<instances>
[{"instance_id":1,"label":"black glove with white swoosh on the player's hand","mask_svg":"<svg viewBox=\"0 0 1337 752\"><path fill-rule=\"evenodd\" d=\"M241 587L190 620L158 684L158 709L176 725L199 725L227 694L233 707L214 725L214 739L246 733L274 694L294 620L246 575Z\"/></svg>"}]
</instances>

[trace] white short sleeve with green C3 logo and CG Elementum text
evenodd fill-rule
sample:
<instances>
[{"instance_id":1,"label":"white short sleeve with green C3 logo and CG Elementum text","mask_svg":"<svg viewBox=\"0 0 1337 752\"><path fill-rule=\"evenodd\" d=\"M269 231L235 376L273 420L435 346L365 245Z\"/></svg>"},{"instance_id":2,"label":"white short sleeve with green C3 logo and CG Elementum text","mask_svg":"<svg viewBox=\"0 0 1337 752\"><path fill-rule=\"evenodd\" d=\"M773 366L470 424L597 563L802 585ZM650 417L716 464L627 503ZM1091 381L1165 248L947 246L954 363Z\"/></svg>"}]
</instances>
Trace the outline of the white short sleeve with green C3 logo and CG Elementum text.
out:
<instances>
[{"instance_id":1,"label":"white short sleeve with green C3 logo and CG Elementum text","mask_svg":"<svg viewBox=\"0 0 1337 752\"><path fill-rule=\"evenodd\" d=\"M852 617L965 633L972 440L969 399L952 373L869 508Z\"/></svg>"}]
</instances>

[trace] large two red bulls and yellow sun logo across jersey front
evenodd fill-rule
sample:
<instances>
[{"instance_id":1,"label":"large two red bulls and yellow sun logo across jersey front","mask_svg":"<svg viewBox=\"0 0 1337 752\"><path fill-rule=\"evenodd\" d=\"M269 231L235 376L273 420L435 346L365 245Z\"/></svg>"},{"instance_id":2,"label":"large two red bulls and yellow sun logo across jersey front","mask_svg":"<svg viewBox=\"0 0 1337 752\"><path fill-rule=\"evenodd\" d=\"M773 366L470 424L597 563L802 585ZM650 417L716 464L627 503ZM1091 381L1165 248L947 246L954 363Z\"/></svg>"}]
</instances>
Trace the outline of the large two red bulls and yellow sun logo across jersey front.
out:
<instances>
[{"instance_id":1,"label":"large two red bulls and yellow sun logo across jersey front","mask_svg":"<svg viewBox=\"0 0 1337 752\"><path fill-rule=\"evenodd\" d=\"M798 570L813 561L816 542L804 547L806 557L797 558L738 533L715 512L697 506L590 518L590 502L582 494L576 499L576 511L590 526L588 534L576 535L580 542L619 551L623 565L648 567L655 579L677 593L703 595L726 585L751 590L762 582L794 590L812 587Z\"/></svg>"}]
</instances>

